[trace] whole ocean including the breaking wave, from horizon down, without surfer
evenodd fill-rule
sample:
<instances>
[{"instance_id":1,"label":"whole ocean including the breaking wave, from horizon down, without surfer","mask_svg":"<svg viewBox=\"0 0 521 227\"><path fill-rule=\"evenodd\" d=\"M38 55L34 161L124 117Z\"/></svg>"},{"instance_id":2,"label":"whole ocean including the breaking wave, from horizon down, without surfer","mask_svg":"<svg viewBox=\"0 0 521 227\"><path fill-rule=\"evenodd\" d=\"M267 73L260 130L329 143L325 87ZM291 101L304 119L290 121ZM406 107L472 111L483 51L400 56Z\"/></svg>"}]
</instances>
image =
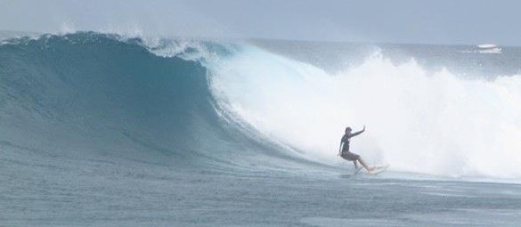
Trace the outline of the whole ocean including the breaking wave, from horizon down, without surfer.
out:
<instances>
[{"instance_id":1,"label":"whole ocean including the breaking wave, from horizon down, without surfer","mask_svg":"<svg viewBox=\"0 0 521 227\"><path fill-rule=\"evenodd\" d=\"M0 226L519 226L521 48L0 33ZM351 148L386 172L355 173Z\"/></svg>"}]
</instances>

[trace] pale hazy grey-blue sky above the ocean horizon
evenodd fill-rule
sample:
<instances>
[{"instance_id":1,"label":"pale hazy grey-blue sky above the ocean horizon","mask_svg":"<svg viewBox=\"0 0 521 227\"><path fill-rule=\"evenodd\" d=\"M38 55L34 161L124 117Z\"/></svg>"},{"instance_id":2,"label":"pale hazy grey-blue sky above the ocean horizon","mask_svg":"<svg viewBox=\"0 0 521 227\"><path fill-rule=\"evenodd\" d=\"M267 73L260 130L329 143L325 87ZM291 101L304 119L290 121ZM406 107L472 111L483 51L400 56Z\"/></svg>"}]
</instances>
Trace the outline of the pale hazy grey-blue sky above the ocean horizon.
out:
<instances>
[{"instance_id":1,"label":"pale hazy grey-blue sky above the ocean horizon","mask_svg":"<svg viewBox=\"0 0 521 227\"><path fill-rule=\"evenodd\" d=\"M521 45L521 1L0 0L0 30Z\"/></svg>"}]
</instances>

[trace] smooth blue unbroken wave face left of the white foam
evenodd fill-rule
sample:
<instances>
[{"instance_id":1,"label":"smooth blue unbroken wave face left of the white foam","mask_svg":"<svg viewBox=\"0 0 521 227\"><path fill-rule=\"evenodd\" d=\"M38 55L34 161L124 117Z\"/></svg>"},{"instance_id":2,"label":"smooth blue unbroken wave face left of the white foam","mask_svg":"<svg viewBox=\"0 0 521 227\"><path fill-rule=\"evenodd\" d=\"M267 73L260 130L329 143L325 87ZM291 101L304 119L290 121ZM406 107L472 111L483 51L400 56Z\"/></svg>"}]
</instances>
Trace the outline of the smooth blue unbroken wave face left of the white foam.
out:
<instances>
[{"instance_id":1,"label":"smooth blue unbroken wave face left of the white foam","mask_svg":"<svg viewBox=\"0 0 521 227\"><path fill-rule=\"evenodd\" d=\"M158 56L141 39L96 33L13 39L0 46L0 62L6 147L213 166L244 162L247 154L230 155L237 150L269 147L224 122L201 62Z\"/></svg>"}]
</instances>

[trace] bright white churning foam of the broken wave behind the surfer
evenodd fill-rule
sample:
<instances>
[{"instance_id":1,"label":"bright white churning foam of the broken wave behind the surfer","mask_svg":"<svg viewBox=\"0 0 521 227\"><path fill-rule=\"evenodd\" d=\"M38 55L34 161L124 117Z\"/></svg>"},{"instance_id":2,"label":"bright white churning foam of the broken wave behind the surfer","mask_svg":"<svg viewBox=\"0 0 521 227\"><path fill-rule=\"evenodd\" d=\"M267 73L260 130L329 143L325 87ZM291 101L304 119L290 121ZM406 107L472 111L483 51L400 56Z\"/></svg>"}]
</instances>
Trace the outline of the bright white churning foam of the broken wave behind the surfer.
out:
<instances>
[{"instance_id":1,"label":"bright white churning foam of the broken wave behind the surfer","mask_svg":"<svg viewBox=\"0 0 521 227\"><path fill-rule=\"evenodd\" d=\"M521 77L468 80L381 54L329 75L253 47L214 62L226 107L274 140L331 165L346 126L352 150L395 171L521 178Z\"/></svg>"}]
</instances>

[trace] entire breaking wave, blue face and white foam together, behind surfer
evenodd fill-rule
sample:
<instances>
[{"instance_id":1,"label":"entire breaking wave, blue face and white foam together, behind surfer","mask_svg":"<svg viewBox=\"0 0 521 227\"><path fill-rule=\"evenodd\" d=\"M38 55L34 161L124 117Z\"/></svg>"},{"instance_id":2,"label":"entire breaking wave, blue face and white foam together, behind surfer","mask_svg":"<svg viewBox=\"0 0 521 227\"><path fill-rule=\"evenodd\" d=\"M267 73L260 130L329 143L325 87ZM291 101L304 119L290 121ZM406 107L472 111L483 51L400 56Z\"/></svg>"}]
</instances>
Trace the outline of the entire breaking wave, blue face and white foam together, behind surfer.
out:
<instances>
[{"instance_id":1,"label":"entire breaking wave, blue face and white foam together, behind surfer","mask_svg":"<svg viewBox=\"0 0 521 227\"><path fill-rule=\"evenodd\" d=\"M521 178L518 76L468 79L385 51L330 70L256 46L4 41L0 145L167 166L335 167L344 128L367 125L354 152L391 171Z\"/></svg>"}]
</instances>

